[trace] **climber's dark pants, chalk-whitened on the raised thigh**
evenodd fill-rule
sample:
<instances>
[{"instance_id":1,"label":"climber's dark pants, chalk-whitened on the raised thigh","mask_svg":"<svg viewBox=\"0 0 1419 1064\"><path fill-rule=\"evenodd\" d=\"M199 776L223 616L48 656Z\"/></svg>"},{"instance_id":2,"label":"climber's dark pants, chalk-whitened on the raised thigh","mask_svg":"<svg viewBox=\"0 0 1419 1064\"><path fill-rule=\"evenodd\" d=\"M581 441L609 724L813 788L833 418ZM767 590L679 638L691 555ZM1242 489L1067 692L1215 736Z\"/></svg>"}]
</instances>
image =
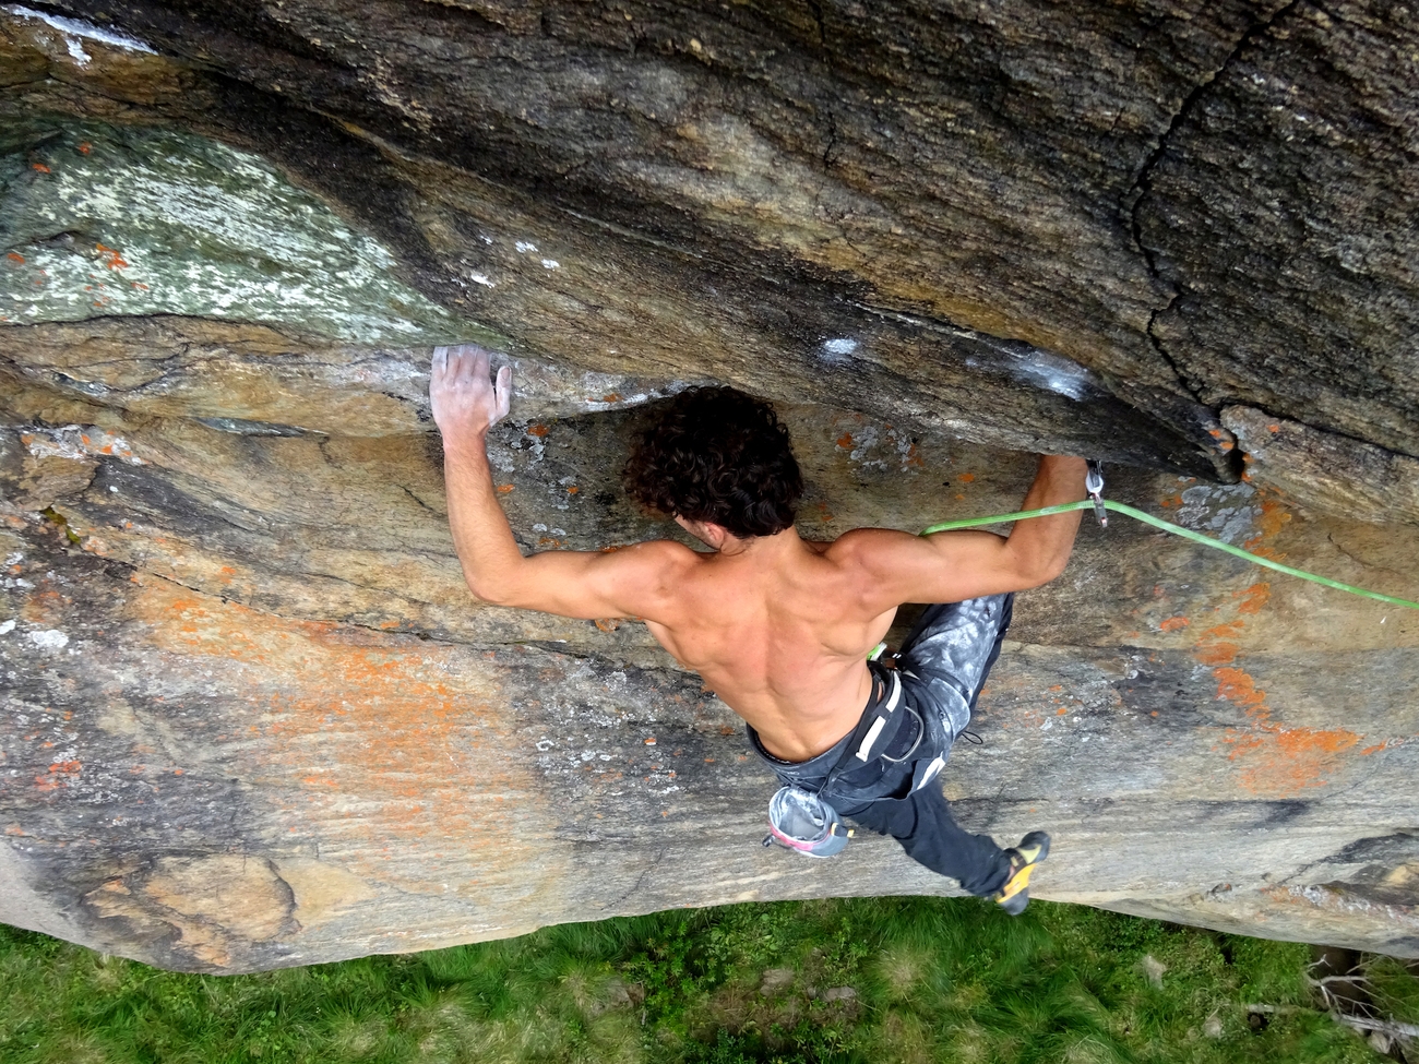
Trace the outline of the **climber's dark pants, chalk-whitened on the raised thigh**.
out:
<instances>
[{"instance_id":1,"label":"climber's dark pants, chalk-whitened on the raised thigh","mask_svg":"<svg viewBox=\"0 0 1419 1064\"><path fill-rule=\"evenodd\" d=\"M917 711L917 719L941 714L941 684L969 692L969 708L981 697L986 675L1000 657L1000 643L1010 626L1013 594L972 599L965 603L941 603L922 613L898 657L902 701ZM968 645L973 641L973 645ZM989 648L986 648L989 647ZM871 706L868 706L871 709ZM866 711L864 711L866 712ZM959 732L959 701L948 714ZM883 758L861 767L839 773L823 797L843 816L866 830L893 836L914 861L934 872L949 875L968 894L993 894L1005 882L1010 861L989 836L962 830L951 816L951 806L941 793L941 780L932 779L912 792L912 775L922 758L907 756L917 741L920 725L910 719L888 745ZM785 785L816 790L839 762L851 735L806 762L785 762L769 755L749 729L751 745L769 763ZM917 752L931 759L939 749L917 745ZM891 759L905 758L894 762Z\"/></svg>"}]
</instances>

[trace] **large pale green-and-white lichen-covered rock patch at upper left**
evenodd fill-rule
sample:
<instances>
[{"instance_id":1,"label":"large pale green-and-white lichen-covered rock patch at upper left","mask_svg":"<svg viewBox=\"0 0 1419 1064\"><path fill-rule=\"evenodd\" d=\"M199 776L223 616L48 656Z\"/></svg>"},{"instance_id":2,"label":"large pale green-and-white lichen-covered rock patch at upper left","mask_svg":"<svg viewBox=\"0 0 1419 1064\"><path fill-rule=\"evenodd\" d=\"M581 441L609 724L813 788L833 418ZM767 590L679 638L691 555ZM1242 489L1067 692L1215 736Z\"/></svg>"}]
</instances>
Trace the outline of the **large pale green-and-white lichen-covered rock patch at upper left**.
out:
<instances>
[{"instance_id":1,"label":"large pale green-and-white lichen-covered rock patch at upper left","mask_svg":"<svg viewBox=\"0 0 1419 1064\"><path fill-rule=\"evenodd\" d=\"M468 332L397 279L379 241L255 155L77 123L35 129L0 167L14 174L0 322L180 314L404 345Z\"/></svg>"}]
</instances>

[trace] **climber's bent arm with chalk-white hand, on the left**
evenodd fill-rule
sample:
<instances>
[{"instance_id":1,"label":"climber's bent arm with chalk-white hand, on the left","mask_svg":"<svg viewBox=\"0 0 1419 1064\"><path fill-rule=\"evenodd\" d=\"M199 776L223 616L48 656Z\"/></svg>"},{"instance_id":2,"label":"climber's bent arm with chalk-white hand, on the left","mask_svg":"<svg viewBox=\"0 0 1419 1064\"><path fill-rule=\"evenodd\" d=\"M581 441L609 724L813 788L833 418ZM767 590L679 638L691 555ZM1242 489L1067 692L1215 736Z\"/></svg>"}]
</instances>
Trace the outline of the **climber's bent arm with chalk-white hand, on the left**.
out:
<instances>
[{"instance_id":1,"label":"climber's bent arm with chalk-white hand, on the left","mask_svg":"<svg viewBox=\"0 0 1419 1064\"><path fill-rule=\"evenodd\" d=\"M488 428L511 404L512 372L504 366L494 384L488 369L488 353L480 348L434 352L430 397L444 441L448 526L468 587L484 602L563 617L656 620L681 567L694 562L694 552L680 543L522 556L487 453Z\"/></svg>"}]
</instances>

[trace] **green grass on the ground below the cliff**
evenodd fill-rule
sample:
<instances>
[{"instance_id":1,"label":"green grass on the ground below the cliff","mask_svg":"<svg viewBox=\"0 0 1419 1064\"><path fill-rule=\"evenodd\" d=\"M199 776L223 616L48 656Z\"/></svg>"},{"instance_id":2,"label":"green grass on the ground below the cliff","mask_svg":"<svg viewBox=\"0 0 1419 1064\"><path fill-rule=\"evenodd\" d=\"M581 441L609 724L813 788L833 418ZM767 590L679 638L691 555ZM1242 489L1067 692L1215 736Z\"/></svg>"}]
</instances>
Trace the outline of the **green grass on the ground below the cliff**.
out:
<instances>
[{"instance_id":1,"label":"green grass on the ground below the cliff","mask_svg":"<svg viewBox=\"0 0 1419 1064\"><path fill-rule=\"evenodd\" d=\"M1307 946L969 898L667 912L253 976L0 928L0 1061L1381 1061ZM1401 1010L1419 979L1382 962ZM1281 1006L1264 1026L1247 1004ZM1402 1016L1399 1019L1415 1019Z\"/></svg>"}]
</instances>

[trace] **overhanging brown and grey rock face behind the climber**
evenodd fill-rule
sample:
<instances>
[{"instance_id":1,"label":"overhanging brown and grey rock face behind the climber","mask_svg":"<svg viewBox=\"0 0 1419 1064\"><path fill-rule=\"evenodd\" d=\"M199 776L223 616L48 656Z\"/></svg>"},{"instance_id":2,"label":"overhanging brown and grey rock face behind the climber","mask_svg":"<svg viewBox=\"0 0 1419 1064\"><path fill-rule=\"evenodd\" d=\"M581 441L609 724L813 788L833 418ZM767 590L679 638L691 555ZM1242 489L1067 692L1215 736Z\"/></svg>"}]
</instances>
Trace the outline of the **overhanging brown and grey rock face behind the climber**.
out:
<instances>
[{"instance_id":1,"label":"overhanging brown and grey rock face behind the climber","mask_svg":"<svg viewBox=\"0 0 1419 1064\"><path fill-rule=\"evenodd\" d=\"M429 348L514 363L529 549L671 535L627 440L721 380L810 535L1088 453L1419 599L1415 52L1304 0L0 10L0 918L234 972L946 892L761 848L641 626L467 594ZM945 786L1054 834L1040 897L1419 956L1419 614L1120 519L1012 636Z\"/></svg>"}]
</instances>

